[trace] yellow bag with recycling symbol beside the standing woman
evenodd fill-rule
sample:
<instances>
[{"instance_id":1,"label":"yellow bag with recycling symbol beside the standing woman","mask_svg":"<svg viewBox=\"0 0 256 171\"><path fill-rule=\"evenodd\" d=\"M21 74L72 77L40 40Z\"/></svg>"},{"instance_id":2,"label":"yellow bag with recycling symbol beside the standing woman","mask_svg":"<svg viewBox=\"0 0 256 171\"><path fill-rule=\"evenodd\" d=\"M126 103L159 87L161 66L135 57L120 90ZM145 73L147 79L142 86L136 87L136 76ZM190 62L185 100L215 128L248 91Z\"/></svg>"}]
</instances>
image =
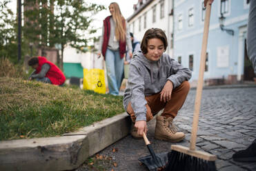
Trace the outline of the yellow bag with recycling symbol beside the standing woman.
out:
<instances>
[{"instance_id":1,"label":"yellow bag with recycling symbol beside the standing woman","mask_svg":"<svg viewBox=\"0 0 256 171\"><path fill-rule=\"evenodd\" d=\"M97 93L105 94L105 75L101 69L86 69L83 68L83 89L93 90Z\"/></svg>"}]
</instances>

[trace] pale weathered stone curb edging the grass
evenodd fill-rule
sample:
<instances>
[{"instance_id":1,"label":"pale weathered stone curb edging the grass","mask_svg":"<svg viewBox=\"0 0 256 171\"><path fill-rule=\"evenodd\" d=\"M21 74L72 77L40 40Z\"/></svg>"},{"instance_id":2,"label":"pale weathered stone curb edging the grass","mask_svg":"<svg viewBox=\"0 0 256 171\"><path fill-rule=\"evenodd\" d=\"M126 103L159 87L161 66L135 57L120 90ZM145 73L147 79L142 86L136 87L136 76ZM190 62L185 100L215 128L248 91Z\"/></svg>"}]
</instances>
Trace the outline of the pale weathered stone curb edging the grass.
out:
<instances>
[{"instance_id":1,"label":"pale weathered stone curb edging the grass","mask_svg":"<svg viewBox=\"0 0 256 171\"><path fill-rule=\"evenodd\" d=\"M124 112L61 137L0 141L0 170L72 170L129 130Z\"/></svg>"}]
</instances>

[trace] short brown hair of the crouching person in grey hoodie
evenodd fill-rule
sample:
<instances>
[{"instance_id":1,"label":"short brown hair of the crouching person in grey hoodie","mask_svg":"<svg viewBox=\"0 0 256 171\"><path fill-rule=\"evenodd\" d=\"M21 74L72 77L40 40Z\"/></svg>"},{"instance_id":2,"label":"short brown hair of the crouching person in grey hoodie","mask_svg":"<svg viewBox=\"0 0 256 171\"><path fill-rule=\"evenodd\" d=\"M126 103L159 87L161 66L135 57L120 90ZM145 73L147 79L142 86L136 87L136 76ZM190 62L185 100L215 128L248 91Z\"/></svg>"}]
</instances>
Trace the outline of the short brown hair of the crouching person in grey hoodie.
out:
<instances>
[{"instance_id":1,"label":"short brown hair of the crouching person in grey hoodie","mask_svg":"<svg viewBox=\"0 0 256 171\"><path fill-rule=\"evenodd\" d=\"M141 41L141 51L144 54L146 54L148 52L148 40L153 39L153 38L157 38L157 39L160 39L161 41L163 41L164 51L166 51L166 48L168 46L166 34L160 28L150 28L150 29L146 30L144 37Z\"/></svg>"}]
</instances>

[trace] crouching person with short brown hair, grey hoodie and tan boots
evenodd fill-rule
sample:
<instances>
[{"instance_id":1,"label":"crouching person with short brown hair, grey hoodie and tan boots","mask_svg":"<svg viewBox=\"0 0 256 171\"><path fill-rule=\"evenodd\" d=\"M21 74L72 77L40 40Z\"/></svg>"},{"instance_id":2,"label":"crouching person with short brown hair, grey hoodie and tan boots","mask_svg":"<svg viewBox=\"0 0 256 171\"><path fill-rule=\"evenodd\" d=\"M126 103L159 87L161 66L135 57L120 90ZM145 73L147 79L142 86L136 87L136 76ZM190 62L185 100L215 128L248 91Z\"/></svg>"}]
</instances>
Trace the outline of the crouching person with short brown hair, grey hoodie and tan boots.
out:
<instances>
[{"instance_id":1,"label":"crouching person with short brown hair, grey hoodie and tan boots","mask_svg":"<svg viewBox=\"0 0 256 171\"><path fill-rule=\"evenodd\" d=\"M124 108L132 119L132 137L139 139L146 133L146 122L157 116L155 139L178 142L184 139L177 132L173 119L186 100L191 72L165 54L166 34L150 28L141 41L141 51L130 62L128 86L124 93Z\"/></svg>"}]
</instances>

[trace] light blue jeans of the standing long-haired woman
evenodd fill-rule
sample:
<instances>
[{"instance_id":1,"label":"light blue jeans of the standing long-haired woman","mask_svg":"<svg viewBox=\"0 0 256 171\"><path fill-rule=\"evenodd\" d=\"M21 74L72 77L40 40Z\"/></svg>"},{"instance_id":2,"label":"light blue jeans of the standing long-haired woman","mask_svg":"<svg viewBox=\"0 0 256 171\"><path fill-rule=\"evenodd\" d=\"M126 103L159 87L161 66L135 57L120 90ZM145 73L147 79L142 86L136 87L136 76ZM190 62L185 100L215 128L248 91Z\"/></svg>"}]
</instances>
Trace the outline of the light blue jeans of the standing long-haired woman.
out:
<instances>
[{"instance_id":1,"label":"light blue jeans of the standing long-haired woman","mask_svg":"<svg viewBox=\"0 0 256 171\"><path fill-rule=\"evenodd\" d=\"M120 59L118 50L114 51L107 49L106 69L109 93L112 95L118 95L124 72L124 59Z\"/></svg>"}]
</instances>

